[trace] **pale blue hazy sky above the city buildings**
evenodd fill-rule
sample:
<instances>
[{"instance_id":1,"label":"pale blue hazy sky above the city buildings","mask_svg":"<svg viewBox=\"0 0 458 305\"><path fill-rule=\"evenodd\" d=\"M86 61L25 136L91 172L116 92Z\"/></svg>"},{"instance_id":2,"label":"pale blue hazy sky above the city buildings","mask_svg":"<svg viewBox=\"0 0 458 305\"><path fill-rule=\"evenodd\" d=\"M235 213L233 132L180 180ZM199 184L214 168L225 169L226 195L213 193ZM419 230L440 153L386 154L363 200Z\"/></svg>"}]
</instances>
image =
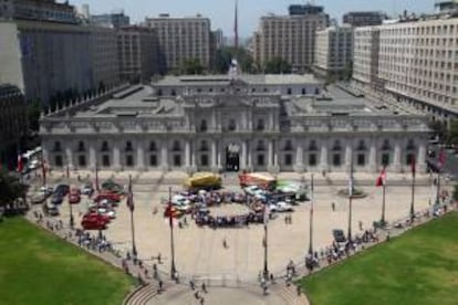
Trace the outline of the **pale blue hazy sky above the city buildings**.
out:
<instances>
[{"instance_id":1,"label":"pale blue hazy sky above the city buildings","mask_svg":"<svg viewBox=\"0 0 458 305\"><path fill-rule=\"evenodd\" d=\"M169 13L171 17L189 17L200 13L209 17L212 29L222 29L225 35L233 35L233 7L236 0L70 0L73 6L90 6L91 14L124 9L134 22L145 17ZM62 2L61 0L59 2ZM259 18L268 13L288 14L291 3L305 3L305 0L239 0L239 35L250 36L258 28ZM415 13L434 11L434 0L314 0L323 6L331 18L342 21L342 14L355 10L379 10L389 15L398 15L404 10Z\"/></svg>"}]
</instances>

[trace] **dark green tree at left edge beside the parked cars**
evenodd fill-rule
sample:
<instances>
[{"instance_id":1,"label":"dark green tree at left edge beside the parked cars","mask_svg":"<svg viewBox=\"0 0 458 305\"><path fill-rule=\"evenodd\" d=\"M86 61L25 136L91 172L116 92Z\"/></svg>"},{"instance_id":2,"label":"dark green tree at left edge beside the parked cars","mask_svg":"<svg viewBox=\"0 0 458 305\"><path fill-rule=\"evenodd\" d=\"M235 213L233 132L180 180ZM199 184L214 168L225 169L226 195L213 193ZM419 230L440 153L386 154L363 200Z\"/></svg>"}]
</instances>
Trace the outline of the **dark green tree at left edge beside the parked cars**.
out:
<instances>
[{"instance_id":1,"label":"dark green tree at left edge beside the parked cars","mask_svg":"<svg viewBox=\"0 0 458 305\"><path fill-rule=\"evenodd\" d=\"M7 210L17 207L18 199L25 198L28 186L7 171L0 171L0 207Z\"/></svg>"}]
</instances>

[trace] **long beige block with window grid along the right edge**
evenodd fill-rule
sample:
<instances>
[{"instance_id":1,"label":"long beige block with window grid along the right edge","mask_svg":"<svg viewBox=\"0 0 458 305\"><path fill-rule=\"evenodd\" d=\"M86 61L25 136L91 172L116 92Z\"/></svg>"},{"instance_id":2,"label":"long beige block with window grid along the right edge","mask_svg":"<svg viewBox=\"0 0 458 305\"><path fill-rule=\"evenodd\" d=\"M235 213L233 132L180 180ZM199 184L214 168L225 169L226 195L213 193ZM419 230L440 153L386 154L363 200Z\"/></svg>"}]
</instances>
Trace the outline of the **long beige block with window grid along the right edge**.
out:
<instances>
[{"instance_id":1,"label":"long beige block with window grid along the right edge","mask_svg":"<svg viewBox=\"0 0 458 305\"><path fill-rule=\"evenodd\" d=\"M458 117L458 18L358 28L354 54L353 78L361 87L435 118Z\"/></svg>"}]
</instances>

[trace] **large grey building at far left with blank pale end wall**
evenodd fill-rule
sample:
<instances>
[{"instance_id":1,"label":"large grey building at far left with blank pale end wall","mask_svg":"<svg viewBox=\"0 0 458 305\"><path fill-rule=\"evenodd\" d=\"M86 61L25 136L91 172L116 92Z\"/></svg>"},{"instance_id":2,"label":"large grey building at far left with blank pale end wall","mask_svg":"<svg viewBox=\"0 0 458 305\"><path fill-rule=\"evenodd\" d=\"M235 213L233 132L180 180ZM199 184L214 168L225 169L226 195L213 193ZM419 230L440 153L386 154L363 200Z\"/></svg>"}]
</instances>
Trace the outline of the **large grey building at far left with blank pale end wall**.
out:
<instances>
[{"instance_id":1,"label":"large grey building at far left with blank pale end wall","mask_svg":"<svg viewBox=\"0 0 458 305\"><path fill-rule=\"evenodd\" d=\"M84 94L118 83L114 30L70 23L0 22L0 83L43 104L72 91Z\"/></svg>"}]
</instances>

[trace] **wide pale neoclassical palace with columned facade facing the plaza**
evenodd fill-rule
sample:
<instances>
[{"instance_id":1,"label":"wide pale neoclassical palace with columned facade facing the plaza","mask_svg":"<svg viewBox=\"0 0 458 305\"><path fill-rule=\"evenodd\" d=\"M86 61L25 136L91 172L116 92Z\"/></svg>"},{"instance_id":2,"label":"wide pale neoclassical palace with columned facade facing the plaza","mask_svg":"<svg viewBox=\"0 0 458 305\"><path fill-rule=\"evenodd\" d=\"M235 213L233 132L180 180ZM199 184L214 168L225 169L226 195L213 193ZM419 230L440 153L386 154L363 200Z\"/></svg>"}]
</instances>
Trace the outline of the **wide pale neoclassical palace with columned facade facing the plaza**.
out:
<instances>
[{"instance_id":1,"label":"wide pale neoclassical palace with columned facade facing the plaza","mask_svg":"<svg viewBox=\"0 0 458 305\"><path fill-rule=\"evenodd\" d=\"M112 170L424 171L427 117L311 75L167 76L41 119L52 167Z\"/></svg>"}]
</instances>

